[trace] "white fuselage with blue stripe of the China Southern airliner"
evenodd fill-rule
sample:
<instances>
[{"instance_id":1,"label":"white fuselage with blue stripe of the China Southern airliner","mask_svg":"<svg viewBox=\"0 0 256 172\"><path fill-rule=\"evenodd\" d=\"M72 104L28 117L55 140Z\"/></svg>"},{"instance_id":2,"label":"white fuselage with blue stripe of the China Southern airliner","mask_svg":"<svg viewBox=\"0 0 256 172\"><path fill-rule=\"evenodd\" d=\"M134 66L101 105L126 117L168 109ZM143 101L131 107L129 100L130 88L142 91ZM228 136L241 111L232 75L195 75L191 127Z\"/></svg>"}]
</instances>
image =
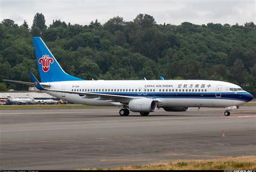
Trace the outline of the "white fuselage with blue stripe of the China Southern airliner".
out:
<instances>
[{"instance_id":1,"label":"white fuselage with blue stripe of the China Southern airliner","mask_svg":"<svg viewBox=\"0 0 256 172\"><path fill-rule=\"evenodd\" d=\"M158 100L158 107L230 107L247 101L246 91L213 80L86 80L44 82L51 90L124 95ZM231 91L230 88L240 88ZM70 102L94 106L121 106L119 102L84 98L78 94L43 91ZM250 94L251 95L251 94Z\"/></svg>"}]
</instances>

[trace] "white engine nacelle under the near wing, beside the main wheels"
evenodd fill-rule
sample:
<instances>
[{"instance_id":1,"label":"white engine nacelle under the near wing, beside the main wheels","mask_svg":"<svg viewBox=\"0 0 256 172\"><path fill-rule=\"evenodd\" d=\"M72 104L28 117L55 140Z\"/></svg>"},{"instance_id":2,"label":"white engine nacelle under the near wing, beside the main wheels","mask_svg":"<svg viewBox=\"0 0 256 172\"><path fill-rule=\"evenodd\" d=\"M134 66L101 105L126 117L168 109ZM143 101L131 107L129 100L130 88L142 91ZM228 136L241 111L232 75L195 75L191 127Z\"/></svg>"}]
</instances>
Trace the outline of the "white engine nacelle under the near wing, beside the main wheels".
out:
<instances>
[{"instance_id":1,"label":"white engine nacelle under the near wing, beside the main wheels","mask_svg":"<svg viewBox=\"0 0 256 172\"><path fill-rule=\"evenodd\" d=\"M154 112L157 109L157 102L153 99L134 99L128 104L132 112Z\"/></svg>"}]
</instances>

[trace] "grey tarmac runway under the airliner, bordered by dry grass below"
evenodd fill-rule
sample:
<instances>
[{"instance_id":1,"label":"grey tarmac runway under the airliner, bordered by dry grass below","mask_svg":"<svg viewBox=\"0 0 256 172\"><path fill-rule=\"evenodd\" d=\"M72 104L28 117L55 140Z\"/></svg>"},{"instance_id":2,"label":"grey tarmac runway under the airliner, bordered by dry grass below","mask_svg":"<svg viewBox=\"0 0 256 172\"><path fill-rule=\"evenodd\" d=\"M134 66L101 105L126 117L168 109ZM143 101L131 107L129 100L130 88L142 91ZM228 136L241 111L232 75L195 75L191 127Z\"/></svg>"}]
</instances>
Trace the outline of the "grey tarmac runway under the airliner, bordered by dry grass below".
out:
<instances>
[{"instance_id":1,"label":"grey tarmac runway under the airliner, bordered by dry grass below","mask_svg":"<svg viewBox=\"0 0 256 172\"><path fill-rule=\"evenodd\" d=\"M0 110L0 169L108 168L184 159L256 155L256 107ZM225 137L222 131L225 130Z\"/></svg>"}]
</instances>

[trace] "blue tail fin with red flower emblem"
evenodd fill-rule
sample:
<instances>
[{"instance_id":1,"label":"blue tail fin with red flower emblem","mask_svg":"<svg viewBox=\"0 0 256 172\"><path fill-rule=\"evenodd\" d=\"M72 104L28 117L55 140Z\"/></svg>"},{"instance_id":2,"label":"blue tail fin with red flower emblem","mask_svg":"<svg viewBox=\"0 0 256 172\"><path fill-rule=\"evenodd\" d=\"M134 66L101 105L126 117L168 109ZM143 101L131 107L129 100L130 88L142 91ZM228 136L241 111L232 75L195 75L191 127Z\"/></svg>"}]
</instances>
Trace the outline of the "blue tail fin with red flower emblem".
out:
<instances>
[{"instance_id":1,"label":"blue tail fin with red flower emblem","mask_svg":"<svg viewBox=\"0 0 256 172\"><path fill-rule=\"evenodd\" d=\"M40 37L33 37L33 45L42 82L83 80L63 71Z\"/></svg>"}]
</instances>

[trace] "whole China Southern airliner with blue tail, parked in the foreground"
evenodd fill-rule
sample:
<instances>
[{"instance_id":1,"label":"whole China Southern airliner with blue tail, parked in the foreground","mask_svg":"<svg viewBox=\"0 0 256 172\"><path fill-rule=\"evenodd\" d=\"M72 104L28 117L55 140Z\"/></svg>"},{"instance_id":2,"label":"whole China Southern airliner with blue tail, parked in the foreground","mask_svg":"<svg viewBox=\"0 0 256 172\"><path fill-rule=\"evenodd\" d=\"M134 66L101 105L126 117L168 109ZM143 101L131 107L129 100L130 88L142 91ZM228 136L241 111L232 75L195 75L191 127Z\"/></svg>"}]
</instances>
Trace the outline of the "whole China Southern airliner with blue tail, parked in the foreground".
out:
<instances>
[{"instance_id":1,"label":"whole China Southern airliner with blue tail, parked in the foreground","mask_svg":"<svg viewBox=\"0 0 256 172\"><path fill-rule=\"evenodd\" d=\"M214 80L83 80L66 73L40 37L33 37L41 82L29 72L38 90L76 104L121 107L119 114L147 116L157 108L185 112L189 107L222 107L224 115L253 99L238 85Z\"/></svg>"}]
</instances>

